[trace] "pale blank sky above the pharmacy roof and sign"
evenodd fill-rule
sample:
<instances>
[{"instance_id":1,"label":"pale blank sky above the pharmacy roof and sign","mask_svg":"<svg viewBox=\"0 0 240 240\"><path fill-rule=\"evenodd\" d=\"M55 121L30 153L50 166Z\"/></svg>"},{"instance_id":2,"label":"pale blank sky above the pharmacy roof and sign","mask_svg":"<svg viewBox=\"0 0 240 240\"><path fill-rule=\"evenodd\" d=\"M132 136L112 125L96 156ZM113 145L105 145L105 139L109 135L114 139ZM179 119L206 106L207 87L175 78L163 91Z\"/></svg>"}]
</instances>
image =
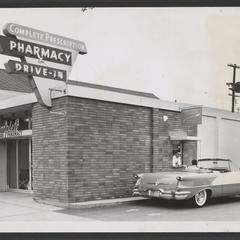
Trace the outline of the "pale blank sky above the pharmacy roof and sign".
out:
<instances>
[{"instance_id":1,"label":"pale blank sky above the pharmacy roof and sign","mask_svg":"<svg viewBox=\"0 0 240 240\"><path fill-rule=\"evenodd\" d=\"M0 30L9 22L84 41L70 79L231 110L240 8L0 9Z\"/></svg>"}]
</instances>

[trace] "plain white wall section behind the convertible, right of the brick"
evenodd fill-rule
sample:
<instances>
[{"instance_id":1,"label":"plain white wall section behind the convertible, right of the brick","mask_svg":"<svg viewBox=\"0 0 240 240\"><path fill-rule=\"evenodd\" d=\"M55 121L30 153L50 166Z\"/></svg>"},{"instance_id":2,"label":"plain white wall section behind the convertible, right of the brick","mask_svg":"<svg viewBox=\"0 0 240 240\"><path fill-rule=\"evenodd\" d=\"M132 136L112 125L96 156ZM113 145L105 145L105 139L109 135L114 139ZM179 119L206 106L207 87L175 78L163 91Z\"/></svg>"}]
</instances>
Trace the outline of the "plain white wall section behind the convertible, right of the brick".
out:
<instances>
[{"instance_id":1,"label":"plain white wall section behind the convertible, right of the brick","mask_svg":"<svg viewBox=\"0 0 240 240\"><path fill-rule=\"evenodd\" d=\"M229 158L240 166L240 114L203 109L198 126L199 158Z\"/></svg>"}]
</instances>

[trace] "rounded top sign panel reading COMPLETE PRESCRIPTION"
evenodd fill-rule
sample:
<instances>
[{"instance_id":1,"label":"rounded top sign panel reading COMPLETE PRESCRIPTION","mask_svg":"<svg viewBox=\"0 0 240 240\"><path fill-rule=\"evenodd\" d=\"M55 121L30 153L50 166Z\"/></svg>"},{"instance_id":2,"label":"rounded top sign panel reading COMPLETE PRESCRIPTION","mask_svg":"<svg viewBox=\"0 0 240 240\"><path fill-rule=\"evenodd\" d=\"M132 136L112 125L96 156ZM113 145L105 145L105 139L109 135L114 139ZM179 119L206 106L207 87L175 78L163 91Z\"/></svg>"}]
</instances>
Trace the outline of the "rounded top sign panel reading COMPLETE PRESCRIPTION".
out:
<instances>
[{"instance_id":1,"label":"rounded top sign panel reading COMPLETE PRESCRIPTION","mask_svg":"<svg viewBox=\"0 0 240 240\"><path fill-rule=\"evenodd\" d=\"M3 30L6 36L16 36L27 38L34 41L48 43L51 45L78 51L80 54L86 54L87 48L84 42L71 38L66 38L49 32L43 32L30 27L22 26L15 23L8 23Z\"/></svg>"}]
</instances>

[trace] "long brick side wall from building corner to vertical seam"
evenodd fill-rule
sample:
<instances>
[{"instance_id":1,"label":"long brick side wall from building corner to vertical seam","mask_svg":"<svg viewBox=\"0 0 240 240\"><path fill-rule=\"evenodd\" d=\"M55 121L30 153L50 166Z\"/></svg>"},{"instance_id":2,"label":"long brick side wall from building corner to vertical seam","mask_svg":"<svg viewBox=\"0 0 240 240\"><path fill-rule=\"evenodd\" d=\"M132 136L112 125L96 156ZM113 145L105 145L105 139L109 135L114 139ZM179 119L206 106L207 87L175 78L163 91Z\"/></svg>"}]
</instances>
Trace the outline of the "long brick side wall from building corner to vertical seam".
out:
<instances>
[{"instance_id":1,"label":"long brick side wall from building corner to vertical seam","mask_svg":"<svg viewBox=\"0 0 240 240\"><path fill-rule=\"evenodd\" d=\"M69 97L67 112L69 201L131 196L152 168L152 110Z\"/></svg>"}]
</instances>

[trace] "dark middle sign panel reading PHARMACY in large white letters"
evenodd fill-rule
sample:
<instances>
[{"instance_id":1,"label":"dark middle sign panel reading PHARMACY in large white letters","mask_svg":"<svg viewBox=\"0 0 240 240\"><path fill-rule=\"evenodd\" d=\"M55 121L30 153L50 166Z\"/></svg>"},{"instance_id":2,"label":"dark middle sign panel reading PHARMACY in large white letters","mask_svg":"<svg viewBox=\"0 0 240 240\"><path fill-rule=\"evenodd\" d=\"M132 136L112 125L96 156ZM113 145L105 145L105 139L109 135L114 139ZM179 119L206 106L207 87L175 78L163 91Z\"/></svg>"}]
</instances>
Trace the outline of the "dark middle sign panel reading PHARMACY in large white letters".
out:
<instances>
[{"instance_id":1,"label":"dark middle sign panel reading PHARMACY in large white letters","mask_svg":"<svg viewBox=\"0 0 240 240\"><path fill-rule=\"evenodd\" d=\"M5 36L0 36L0 53L14 57L26 56L70 66L72 65L72 54L69 51Z\"/></svg>"}]
</instances>

